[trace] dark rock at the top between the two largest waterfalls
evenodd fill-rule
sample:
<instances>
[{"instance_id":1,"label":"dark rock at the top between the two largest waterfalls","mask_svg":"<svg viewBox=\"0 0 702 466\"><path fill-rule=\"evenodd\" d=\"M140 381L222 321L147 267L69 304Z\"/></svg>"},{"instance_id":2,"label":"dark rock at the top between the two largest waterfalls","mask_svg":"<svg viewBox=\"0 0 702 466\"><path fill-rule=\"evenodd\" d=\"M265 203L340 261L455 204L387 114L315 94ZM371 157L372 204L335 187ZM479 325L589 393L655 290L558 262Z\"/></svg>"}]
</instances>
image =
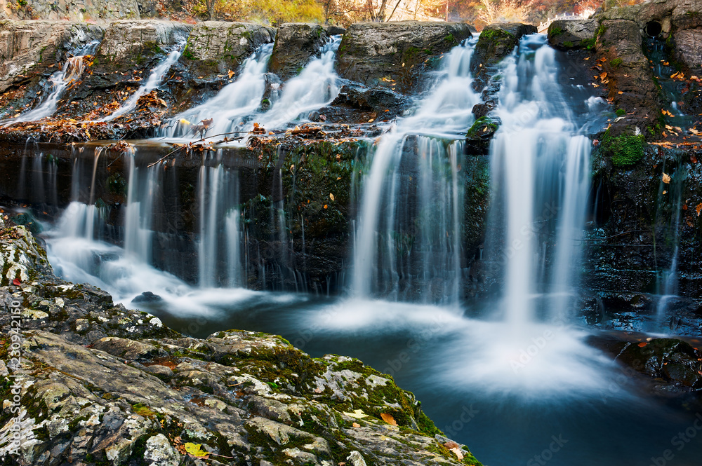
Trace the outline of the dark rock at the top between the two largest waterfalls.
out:
<instances>
[{"instance_id":1,"label":"dark rock at the top between the two largest waterfalls","mask_svg":"<svg viewBox=\"0 0 702 466\"><path fill-rule=\"evenodd\" d=\"M521 22L501 22L486 26L480 32L470 60L470 71L476 78L473 88L482 90L493 65L510 55L523 36L537 32L536 26L524 25Z\"/></svg>"}]
</instances>

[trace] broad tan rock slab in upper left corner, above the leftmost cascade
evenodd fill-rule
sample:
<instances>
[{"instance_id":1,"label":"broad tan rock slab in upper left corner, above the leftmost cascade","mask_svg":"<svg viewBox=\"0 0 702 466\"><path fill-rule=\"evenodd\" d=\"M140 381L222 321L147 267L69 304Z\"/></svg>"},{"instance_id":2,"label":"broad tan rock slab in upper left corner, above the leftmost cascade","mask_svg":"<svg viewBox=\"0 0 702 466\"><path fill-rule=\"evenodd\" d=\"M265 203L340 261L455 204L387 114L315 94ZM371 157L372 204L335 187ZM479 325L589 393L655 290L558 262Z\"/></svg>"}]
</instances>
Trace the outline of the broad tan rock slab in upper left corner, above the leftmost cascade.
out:
<instances>
[{"instance_id":1,"label":"broad tan rock slab in upper left corner, above the leftmost cascade","mask_svg":"<svg viewBox=\"0 0 702 466\"><path fill-rule=\"evenodd\" d=\"M0 92L28 71L43 72L74 55L105 31L67 21L0 21Z\"/></svg>"}]
</instances>

